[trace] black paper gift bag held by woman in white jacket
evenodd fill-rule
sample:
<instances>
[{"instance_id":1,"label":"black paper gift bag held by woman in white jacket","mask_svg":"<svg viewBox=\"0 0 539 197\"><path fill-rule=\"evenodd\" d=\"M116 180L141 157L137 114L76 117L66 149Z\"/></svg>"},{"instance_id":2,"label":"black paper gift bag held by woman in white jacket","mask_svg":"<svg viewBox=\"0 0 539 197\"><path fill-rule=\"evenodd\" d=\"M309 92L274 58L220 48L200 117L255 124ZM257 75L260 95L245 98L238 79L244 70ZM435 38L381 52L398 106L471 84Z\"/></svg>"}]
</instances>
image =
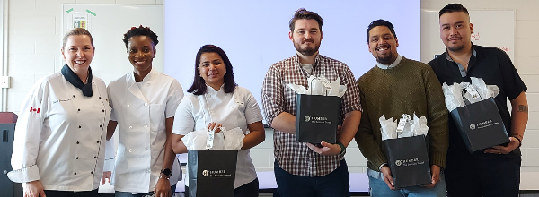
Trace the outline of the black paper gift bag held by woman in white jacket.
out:
<instances>
[{"instance_id":1,"label":"black paper gift bag held by woman in white jacket","mask_svg":"<svg viewBox=\"0 0 539 197\"><path fill-rule=\"evenodd\" d=\"M234 197L238 150L188 150L189 196Z\"/></svg>"}]
</instances>

